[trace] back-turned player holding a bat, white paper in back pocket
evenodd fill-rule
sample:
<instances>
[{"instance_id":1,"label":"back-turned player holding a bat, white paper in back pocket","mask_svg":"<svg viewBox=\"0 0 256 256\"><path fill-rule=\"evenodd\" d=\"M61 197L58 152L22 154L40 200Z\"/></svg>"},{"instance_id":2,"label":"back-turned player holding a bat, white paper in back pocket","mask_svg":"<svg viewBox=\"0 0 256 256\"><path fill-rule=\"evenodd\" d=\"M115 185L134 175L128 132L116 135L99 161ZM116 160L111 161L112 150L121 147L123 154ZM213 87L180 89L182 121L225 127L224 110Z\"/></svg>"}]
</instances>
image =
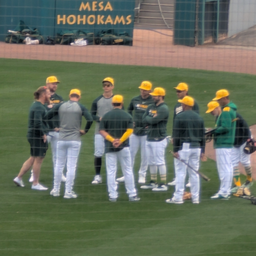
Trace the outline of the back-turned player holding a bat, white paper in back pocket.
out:
<instances>
[{"instance_id":1,"label":"back-turned player holding a bat, white paper in back pocket","mask_svg":"<svg viewBox=\"0 0 256 256\"><path fill-rule=\"evenodd\" d=\"M200 157L205 160L205 126L203 119L192 111L194 99L185 96L179 99L182 105L182 112L176 116L173 126L173 152L176 176L176 187L173 198L167 199L167 203L182 204L186 170L191 181L192 203L199 204L200 182L199 175L185 163L185 160L194 170L199 169Z\"/></svg>"}]
</instances>

